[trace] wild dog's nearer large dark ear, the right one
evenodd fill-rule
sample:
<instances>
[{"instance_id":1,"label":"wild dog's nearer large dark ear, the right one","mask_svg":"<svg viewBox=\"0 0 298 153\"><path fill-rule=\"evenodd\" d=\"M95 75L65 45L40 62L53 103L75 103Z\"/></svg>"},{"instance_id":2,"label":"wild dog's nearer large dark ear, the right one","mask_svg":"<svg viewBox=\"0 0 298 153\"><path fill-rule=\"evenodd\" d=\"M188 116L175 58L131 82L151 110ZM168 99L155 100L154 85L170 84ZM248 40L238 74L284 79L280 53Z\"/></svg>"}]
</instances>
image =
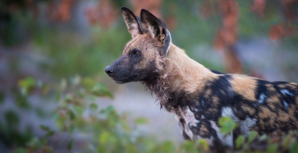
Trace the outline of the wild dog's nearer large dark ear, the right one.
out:
<instances>
[{"instance_id":1,"label":"wild dog's nearer large dark ear, the right one","mask_svg":"<svg viewBox=\"0 0 298 153\"><path fill-rule=\"evenodd\" d=\"M156 18L149 11L142 9L141 23L146 33L150 34L151 37L160 41L160 44L161 44L160 47L162 46L168 47L171 36L167 30L167 27L164 25L164 23L161 20Z\"/></svg>"}]
</instances>

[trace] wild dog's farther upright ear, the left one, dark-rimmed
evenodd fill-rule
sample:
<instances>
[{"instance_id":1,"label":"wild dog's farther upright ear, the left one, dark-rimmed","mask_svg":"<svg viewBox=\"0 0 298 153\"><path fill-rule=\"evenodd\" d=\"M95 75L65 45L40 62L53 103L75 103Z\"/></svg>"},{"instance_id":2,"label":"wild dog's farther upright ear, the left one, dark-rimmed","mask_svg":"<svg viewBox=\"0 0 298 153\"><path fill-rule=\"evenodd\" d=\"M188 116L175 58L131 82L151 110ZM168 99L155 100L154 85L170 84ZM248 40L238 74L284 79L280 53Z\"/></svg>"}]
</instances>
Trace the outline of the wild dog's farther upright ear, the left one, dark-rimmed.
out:
<instances>
[{"instance_id":1,"label":"wild dog's farther upright ear, the left one, dark-rimmed","mask_svg":"<svg viewBox=\"0 0 298 153\"><path fill-rule=\"evenodd\" d=\"M144 30L142 30L141 19L139 17L134 15L134 13L127 7L121 7L121 12L132 38L139 34L144 34Z\"/></svg>"}]
</instances>

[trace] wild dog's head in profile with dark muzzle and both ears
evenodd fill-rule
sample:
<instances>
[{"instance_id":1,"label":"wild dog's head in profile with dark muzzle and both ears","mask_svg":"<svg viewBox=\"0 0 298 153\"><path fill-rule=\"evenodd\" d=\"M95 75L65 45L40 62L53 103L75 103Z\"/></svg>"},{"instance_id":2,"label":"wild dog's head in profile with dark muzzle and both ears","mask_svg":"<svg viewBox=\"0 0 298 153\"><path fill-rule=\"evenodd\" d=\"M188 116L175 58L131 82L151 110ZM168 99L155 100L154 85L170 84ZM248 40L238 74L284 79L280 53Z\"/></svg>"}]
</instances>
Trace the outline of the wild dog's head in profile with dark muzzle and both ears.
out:
<instances>
[{"instance_id":1,"label":"wild dog's head in profile with dark muzzle and both ears","mask_svg":"<svg viewBox=\"0 0 298 153\"><path fill-rule=\"evenodd\" d=\"M171 43L170 32L147 10L141 10L140 18L126 7L122 7L121 12L132 40L105 72L116 83L145 81L161 66L159 62L166 56Z\"/></svg>"}]
</instances>

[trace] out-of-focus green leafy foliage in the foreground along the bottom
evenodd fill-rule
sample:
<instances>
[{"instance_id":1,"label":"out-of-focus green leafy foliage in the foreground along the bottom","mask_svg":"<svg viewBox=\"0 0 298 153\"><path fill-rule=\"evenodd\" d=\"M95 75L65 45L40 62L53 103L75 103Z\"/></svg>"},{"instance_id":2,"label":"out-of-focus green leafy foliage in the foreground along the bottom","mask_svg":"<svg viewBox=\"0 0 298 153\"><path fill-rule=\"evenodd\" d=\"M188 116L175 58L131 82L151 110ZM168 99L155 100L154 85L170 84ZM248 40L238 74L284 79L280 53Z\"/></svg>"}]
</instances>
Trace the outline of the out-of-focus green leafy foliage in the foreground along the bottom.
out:
<instances>
[{"instance_id":1,"label":"out-of-focus green leafy foliage in the foreground along the bottom","mask_svg":"<svg viewBox=\"0 0 298 153\"><path fill-rule=\"evenodd\" d=\"M18 144L19 147L13 151L15 153L55 152L55 148L49 146L49 140L61 132L69 133L71 138L67 141L65 149L71 152L75 144L75 138L72 138L75 132L91 136L92 139L86 141L87 150L85 151L88 152L195 153L217 151L216 148L214 150L209 147L209 141L206 139L184 141L177 146L172 141L156 141L155 138L140 133L132 127L147 124L148 119L144 117L132 118L127 113L118 113L113 106L101 108L97 97L112 98L113 96L103 83L96 83L91 78L81 79L76 75L70 81L62 79L58 85L39 84L41 85L37 85L33 78L19 81L20 90L28 91L27 94L19 95L22 96L23 101L27 101L32 89L41 91L40 94L43 93L44 86L47 86L49 91L56 91L53 95L59 96L53 96L53 98L58 102L54 115L58 130L40 125L40 129L44 131L42 137L33 136L29 128L27 134L24 135L16 130L20 122L18 114L8 110L4 113L6 127L0 124L0 136L4 138L4 143ZM226 116L221 117L218 124L221 127L220 132L225 135L230 135L238 127L236 122ZM6 133L1 133L1 131ZM235 149L239 152L297 152L297 146L297 131L290 132L288 135L273 135L272 137L258 136L257 132L252 131L247 138L244 135L239 135L235 139ZM226 150L234 151L229 148Z\"/></svg>"}]
</instances>

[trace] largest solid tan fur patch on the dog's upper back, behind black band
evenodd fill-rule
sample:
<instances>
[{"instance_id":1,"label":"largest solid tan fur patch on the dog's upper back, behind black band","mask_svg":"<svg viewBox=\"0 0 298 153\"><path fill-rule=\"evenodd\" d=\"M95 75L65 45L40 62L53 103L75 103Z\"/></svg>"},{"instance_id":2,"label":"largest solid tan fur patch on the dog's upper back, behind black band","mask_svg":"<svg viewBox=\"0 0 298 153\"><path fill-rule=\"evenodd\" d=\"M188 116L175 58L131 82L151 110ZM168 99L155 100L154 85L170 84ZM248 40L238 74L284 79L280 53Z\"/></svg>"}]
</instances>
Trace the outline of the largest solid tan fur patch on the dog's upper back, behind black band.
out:
<instances>
[{"instance_id":1,"label":"largest solid tan fur patch on the dog's upper back, behind black band","mask_svg":"<svg viewBox=\"0 0 298 153\"><path fill-rule=\"evenodd\" d=\"M257 81L252 79L252 77L246 75L233 75L230 83L232 84L233 90L242 95L245 99L257 101L255 98Z\"/></svg>"}]
</instances>

